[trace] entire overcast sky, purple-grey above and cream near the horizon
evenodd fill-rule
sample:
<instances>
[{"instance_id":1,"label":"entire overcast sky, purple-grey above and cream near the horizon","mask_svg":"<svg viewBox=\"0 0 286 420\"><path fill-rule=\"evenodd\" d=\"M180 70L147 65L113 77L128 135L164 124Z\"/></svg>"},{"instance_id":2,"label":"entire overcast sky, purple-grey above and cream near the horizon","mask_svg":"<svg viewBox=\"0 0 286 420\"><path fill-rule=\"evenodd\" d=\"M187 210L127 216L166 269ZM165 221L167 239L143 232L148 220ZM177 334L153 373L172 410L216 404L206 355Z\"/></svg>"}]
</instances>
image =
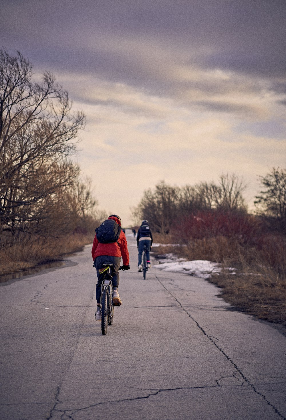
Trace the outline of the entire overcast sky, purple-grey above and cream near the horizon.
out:
<instances>
[{"instance_id":1,"label":"entire overcast sky, purple-grey above and cream near the horizon","mask_svg":"<svg viewBox=\"0 0 286 420\"><path fill-rule=\"evenodd\" d=\"M0 46L87 115L78 162L130 223L159 181L286 168L285 0L2 0Z\"/></svg>"}]
</instances>

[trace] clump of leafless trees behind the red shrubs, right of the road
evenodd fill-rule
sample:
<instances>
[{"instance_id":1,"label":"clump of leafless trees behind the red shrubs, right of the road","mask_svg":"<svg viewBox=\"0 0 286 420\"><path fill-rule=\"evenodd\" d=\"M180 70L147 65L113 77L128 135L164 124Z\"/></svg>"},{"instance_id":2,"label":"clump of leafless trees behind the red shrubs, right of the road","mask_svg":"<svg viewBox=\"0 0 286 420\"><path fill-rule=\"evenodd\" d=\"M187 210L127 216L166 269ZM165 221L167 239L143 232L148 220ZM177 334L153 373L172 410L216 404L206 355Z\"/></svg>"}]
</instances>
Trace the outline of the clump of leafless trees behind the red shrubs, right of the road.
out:
<instances>
[{"instance_id":1,"label":"clump of leafless trees behind the red shrubs, right of the road","mask_svg":"<svg viewBox=\"0 0 286 420\"><path fill-rule=\"evenodd\" d=\"M146 219L151 228L166 235L179 220L198 211L216 209L246 213L243 179L227 173L220 175L219 180L219 184L210 182L181 188L161 181L154 191L144 191L138 207L132 209L133 220Z\"/></svg>"}]
</instances>

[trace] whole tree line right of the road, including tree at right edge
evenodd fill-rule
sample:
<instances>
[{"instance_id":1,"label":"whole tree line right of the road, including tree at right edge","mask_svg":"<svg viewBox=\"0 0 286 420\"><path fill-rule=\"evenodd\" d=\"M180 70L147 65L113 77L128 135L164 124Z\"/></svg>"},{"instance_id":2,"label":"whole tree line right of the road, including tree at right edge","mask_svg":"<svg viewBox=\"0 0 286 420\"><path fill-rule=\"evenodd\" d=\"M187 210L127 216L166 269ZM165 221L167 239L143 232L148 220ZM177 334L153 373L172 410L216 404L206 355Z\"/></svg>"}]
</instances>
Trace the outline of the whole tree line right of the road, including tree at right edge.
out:
<instances>
[{"instance_id":1,"label":"whole tree line right of the road, including tree at right edge","mask_svg":"<svg viewBox=\"0 0 286 420\"><path fill-rule=\"evenodd\" d=\"M260 176L261 191L255 197L255 215L276 231L286 232L286 171L273 168ZM194 186L171 186L161 181L143 193L132 210L134 223L146 219L158 233L166 235L174 226L200 215L228 215L229 225L234 215L247 216L243 192L247 184L236 174L221 174L217 183L201 182ZM207 216L206 216L207 217ZM209 216L208 216L209 217ZM238 218L236 218L238 220ZM238 223L238 222L237 222Z\"/></svg>"}]
</instances>

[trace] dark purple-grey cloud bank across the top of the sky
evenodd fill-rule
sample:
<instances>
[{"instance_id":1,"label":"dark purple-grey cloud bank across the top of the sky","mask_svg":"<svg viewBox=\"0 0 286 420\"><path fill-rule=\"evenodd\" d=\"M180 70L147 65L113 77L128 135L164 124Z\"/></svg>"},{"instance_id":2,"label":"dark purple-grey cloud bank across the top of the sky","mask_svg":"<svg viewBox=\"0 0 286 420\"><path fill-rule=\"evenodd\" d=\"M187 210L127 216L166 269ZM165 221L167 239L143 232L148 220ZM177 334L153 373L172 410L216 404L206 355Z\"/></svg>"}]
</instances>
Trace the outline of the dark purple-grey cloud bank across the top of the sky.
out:
<instances>
[{"instance_id":1,"label":"dark purple-grey cloud bank across the top of the sky","mask_svg":"<svg viewBox=\"0 0 286 420\"><path fill-rule=\"evenodd\" d=\"M174 50L204 50L196 65L231 69L273 78L285 74L286 5L284 0L169 1L6 1L1 11L3 42L25 50L32 60L55 68L105 68L118 78L138 71L132 59L122 63L116 54L90 57L84 38L124 36L156 39ZM74 48L77 38L82 48ZM18 44L18 45L15 45ZM22 48L21 48L22 47ZM185 64L194 64L193 55ZM152 74L141 69L142 84ZM150 80L149 80L150 83Z\"/></svg>"}]
</instances>

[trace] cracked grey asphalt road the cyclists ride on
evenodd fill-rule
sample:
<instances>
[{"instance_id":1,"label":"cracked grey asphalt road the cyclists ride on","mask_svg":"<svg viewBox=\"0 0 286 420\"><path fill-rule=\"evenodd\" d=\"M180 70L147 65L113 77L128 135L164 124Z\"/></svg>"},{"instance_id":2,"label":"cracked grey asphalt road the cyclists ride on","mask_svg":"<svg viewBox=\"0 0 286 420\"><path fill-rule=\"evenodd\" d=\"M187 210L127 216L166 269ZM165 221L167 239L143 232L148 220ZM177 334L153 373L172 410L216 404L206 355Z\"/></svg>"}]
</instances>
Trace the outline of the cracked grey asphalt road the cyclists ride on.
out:
<instances>
[{"instance_id":1,"label":"cracked grey asphalt road the cyclists ride on","mask_svg":"<svg viewBox=\"0 0 286 420\"><path fill-rule=\"evenodd\" d=\"M128 233L128 231L127 231ZM91 246L0 287L0 419L286 418L286 338L199 278L121 274L107 335Z\"/></svg>"}]
</instances>

